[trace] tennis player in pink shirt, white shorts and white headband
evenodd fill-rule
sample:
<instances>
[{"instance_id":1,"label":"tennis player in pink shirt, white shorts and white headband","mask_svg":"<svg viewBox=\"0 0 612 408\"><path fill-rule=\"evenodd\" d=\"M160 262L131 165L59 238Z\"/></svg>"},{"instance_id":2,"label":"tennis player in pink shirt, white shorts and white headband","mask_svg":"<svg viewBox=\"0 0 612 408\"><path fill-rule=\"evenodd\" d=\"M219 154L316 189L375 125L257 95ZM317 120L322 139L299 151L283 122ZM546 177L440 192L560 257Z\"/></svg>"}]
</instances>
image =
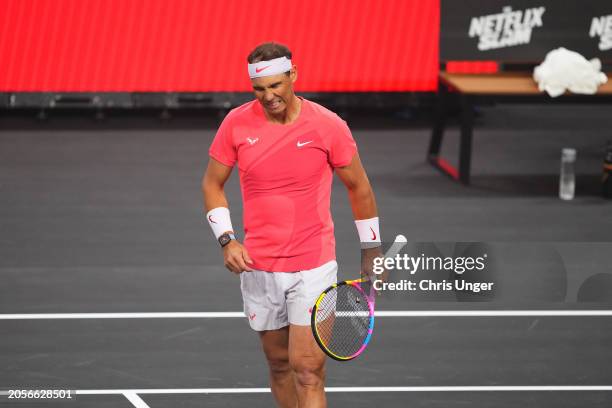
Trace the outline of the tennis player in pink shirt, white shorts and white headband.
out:
<instances>
[{"instance_id":1,"label":"tennis player in pink shirt, white shorts and white headband","mask_svg":"<svg viewBox=\"0 0 612 408\"><path fill-rule=\"evenodd\" d=\"M323 58L319 64L335 69ZM256 99L229 112L209 150L202 180L206 219L225 266L240 274L244 312L259 333L279 406L325 407L325 355L313 338L310 312L337 281L333 173L348 190L362 269L381 254L376 201L346 123L295 95L291 51L277 43L259 45L248 56L248 73ZM223 188L236 165L242 242Z\"/></svg>"}]
</instances>

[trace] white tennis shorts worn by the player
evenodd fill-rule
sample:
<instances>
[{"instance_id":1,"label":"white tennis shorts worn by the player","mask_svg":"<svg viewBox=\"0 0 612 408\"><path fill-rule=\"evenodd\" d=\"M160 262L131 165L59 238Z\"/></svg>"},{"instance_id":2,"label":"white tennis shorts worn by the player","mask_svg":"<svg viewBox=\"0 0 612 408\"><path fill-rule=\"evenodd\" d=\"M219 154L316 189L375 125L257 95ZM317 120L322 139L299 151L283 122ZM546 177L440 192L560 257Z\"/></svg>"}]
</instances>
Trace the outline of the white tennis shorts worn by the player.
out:
<instances>
[{"instance_id":1,"label":"white tennis shorts worn by the player","mask_svg":"<svg viewBox=\"0 0 612 408\"><path fill-rule=\"evenodd\" d=\"M317 298L337 280L336 261L299 272L242 272L244 314L256 331L277 330L289 324L310 326Z\"/></svg>"}]
</instances>

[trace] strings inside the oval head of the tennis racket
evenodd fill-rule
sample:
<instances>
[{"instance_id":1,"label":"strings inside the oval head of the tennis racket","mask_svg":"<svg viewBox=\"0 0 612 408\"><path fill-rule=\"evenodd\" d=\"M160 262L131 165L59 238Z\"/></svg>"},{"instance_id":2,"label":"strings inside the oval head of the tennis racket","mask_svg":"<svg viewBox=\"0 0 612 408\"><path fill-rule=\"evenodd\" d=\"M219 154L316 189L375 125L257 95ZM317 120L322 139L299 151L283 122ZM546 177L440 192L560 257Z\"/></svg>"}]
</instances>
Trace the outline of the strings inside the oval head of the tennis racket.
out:
<instances>
[{"instance_id":1,"label":"strings inside the oval head of the tennis racket","mask_svg":"<svg viewBox=\"0 0 612 408\"><path fill-rule=\"evenodd\" d=\"M315 315L319 340L338 357L350 357L361 349L370 320L367 298L352 285L327 292Z\"/></svg>"}]
</instances>

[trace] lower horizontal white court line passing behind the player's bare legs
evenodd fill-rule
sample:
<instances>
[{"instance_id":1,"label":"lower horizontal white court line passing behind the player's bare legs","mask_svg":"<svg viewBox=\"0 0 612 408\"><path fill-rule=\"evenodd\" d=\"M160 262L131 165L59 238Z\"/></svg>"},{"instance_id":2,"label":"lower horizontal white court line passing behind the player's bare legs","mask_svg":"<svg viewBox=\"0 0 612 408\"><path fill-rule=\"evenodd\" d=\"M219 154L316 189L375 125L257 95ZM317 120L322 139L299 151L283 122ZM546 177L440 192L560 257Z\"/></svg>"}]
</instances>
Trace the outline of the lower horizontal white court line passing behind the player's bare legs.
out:
<instances>
[{"instance_id":1,"label":"lower horizontal white court line passing behind the player's bare legs","mask_svg":"<svg viewBox=\"0 0 612 408\"><path fill-rule=\"evenodd\" d=\"M326 392L508 392L612 391L612 385L492 385L423 387L325 387ZM136 390L76 390L77 395L113 394L263 394L270 388L171 388Z\"/></svg>"}]
</instances>

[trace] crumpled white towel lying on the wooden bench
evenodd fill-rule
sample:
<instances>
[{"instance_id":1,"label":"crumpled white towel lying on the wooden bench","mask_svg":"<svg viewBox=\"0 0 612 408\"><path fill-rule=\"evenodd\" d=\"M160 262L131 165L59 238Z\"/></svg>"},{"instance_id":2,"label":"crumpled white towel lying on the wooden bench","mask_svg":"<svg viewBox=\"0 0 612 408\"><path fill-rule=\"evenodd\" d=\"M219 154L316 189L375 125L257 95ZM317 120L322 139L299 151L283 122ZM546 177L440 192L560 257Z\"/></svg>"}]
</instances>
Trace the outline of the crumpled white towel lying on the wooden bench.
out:
<instances>
[{"instance_id":1,"label":"crumpled white towel lying on the wooden bench","mask_svg":"<svg viewBox=\"0 0 612 408\"><path fill-rule=\"evenodd\" d=\"M563 47L546 54L544 62L533 70L533 79L540 91L551 97L563 95L566 90L578 94L597 93L597 87L608 81L601 72L601 61L587 61L582 55Z\"/></svg>"}]
</instances>

